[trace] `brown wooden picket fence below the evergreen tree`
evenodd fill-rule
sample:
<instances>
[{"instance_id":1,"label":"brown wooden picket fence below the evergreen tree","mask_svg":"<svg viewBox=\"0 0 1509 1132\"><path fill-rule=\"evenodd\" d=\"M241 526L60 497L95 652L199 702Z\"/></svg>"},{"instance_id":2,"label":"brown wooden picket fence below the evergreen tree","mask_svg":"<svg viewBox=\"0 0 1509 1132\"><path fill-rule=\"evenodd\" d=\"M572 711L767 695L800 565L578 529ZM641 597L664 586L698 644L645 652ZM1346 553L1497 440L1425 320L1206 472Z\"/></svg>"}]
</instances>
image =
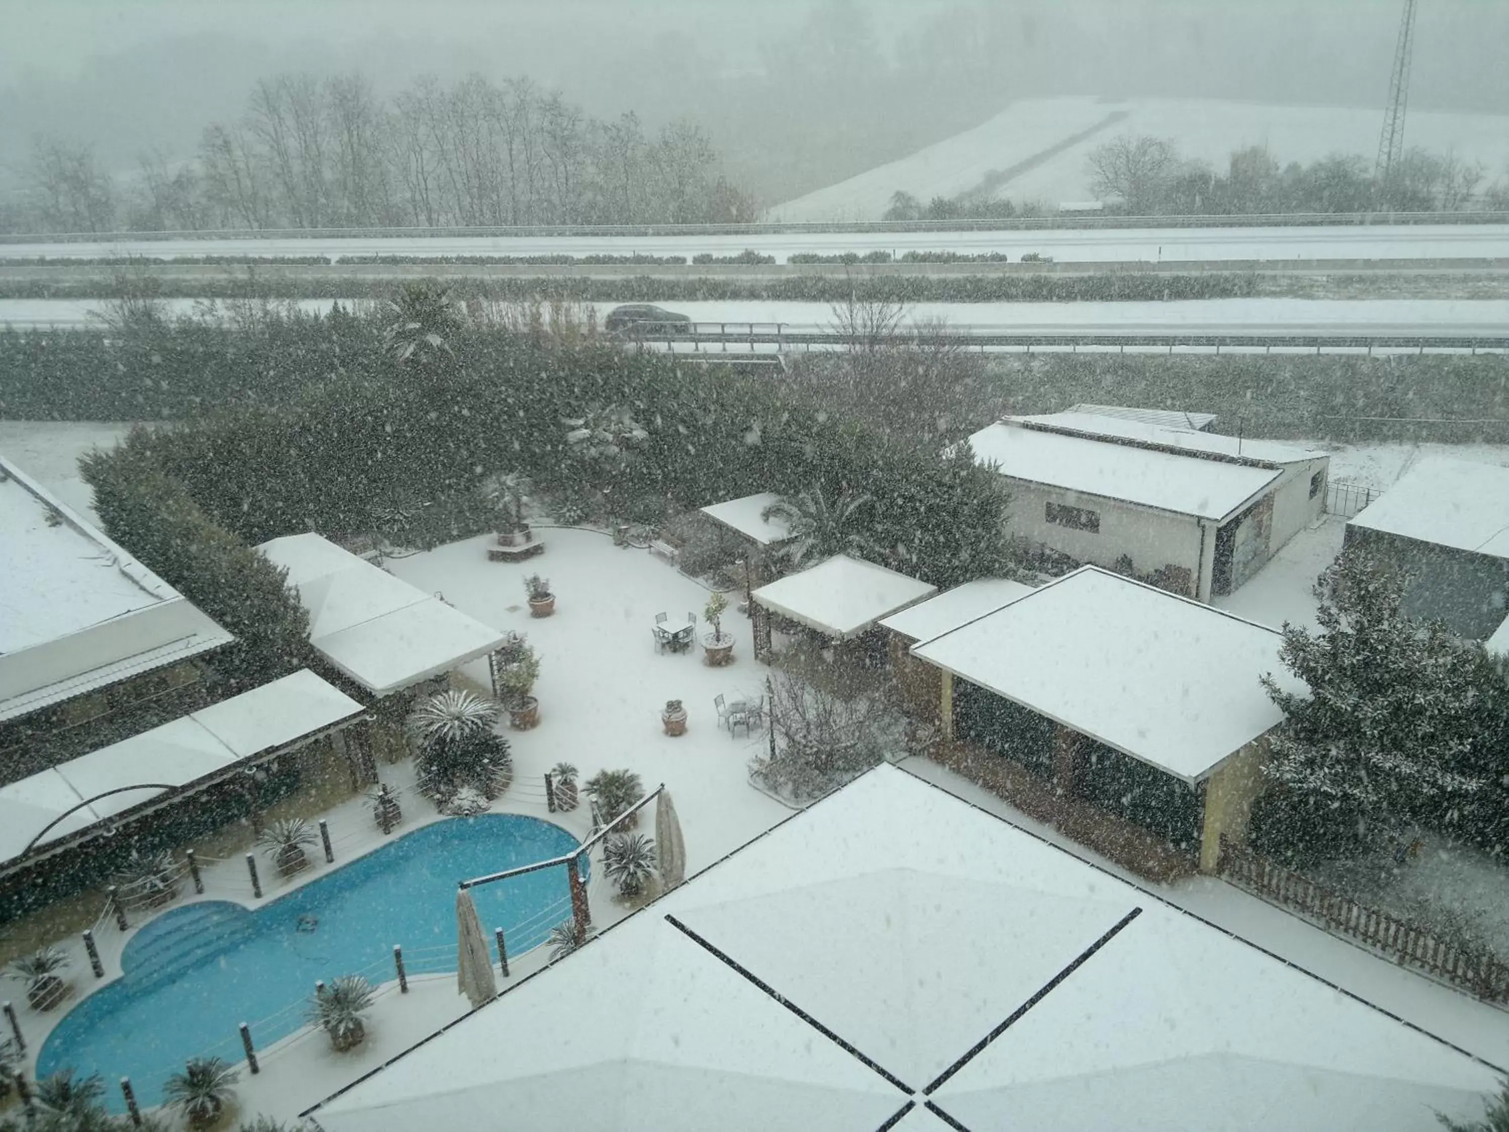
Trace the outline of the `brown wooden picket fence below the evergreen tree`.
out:
<instances>
[{"instance_id":1,"label":"brown wooden picket fence below the evergreen tree","mask_svg":"<svg viewBox=\"0 0 1509 1132\"><path fill-rule=\"evenodd\" d=\"M1447 943L1431 931L1316 884L1221 838L1219 872L1239 887L1290 907L1328 930L1376 948L1486 1002L1509 1002L1509 966L1488 951Z\"/></svg>"}]
</instances>

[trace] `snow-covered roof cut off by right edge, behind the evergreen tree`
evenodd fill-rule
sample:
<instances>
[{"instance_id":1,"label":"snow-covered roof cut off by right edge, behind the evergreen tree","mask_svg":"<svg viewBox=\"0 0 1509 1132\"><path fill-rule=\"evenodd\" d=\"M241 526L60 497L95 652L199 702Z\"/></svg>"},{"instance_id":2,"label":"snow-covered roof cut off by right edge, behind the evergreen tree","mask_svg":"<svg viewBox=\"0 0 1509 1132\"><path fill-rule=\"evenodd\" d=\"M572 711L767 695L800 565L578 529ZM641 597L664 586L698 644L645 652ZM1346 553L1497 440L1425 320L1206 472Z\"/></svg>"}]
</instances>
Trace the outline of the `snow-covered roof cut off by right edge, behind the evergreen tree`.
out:
<instances>
[{"instance_id":1,"label":"snow-covered roof cut off by right edge, behind the evergreen tree","mask_svg":"<svg viewBox=\"0 0 1509 1132\"><path fill-rule=\"evenodd\" d=\"M1509 558L1509 468L1446 457L1420 460L1348 522Z\"/></svg>"}]
</instances>

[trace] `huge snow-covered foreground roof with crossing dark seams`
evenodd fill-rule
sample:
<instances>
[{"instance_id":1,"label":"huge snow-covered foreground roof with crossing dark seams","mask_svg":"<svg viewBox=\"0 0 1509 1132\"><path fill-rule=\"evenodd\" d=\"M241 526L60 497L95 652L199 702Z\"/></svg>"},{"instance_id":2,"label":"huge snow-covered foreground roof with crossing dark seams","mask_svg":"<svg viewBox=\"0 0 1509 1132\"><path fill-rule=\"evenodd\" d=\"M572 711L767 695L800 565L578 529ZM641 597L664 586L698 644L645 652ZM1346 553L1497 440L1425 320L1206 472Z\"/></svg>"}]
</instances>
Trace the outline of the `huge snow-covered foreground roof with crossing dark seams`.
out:
<instances>
[{"instance_id":1,"label":"huge snow-covered foreground roof with crossing dark seams","mask_svg":"<svg viewBox=\"0 0 1509 1132\"><path fill-rule=\"evenodd\" d=\"M311 1115L1320 1132L1345 1112L1414 1132L1495 1087L1440 1038L881 765Z\"/></svg>"}]
</instances>

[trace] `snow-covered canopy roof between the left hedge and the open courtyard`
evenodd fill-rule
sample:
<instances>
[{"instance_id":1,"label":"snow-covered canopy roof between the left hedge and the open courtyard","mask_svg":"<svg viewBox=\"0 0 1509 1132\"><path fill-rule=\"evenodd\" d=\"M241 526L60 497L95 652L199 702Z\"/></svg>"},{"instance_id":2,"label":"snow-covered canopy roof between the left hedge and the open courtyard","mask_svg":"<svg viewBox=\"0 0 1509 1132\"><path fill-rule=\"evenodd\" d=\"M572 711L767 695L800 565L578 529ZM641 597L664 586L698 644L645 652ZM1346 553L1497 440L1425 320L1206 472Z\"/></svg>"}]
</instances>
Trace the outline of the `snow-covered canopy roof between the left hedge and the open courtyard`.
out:
<instances>
[{"instance_id":1,"label":"snow-covered canopy roof between the left hedge and the open courtyard","mask_svg":"<svg viewBox=\"0 0 1509 1132\"><path fill-rule=\"evenodd\" d=\"M309 643L374 696L450 672L502 644L502 634L318 534L258 546L288 571L309 611Z\"/></svg>"}]
</instances>

